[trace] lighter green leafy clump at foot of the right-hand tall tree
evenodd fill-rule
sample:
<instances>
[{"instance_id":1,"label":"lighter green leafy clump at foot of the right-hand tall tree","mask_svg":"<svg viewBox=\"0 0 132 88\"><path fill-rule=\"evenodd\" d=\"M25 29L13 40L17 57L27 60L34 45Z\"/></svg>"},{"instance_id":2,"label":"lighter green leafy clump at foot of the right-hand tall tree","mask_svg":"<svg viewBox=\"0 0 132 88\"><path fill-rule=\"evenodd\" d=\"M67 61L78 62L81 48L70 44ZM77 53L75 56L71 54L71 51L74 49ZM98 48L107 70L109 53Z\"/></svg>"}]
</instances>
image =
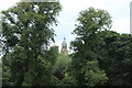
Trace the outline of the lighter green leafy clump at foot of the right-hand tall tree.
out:
<instances>
[{"instance_id":1,"label":"lighter green leafy clump at foot of the right-hand tall tree","mask_svg":"<svg viewBox=\"0 0 132 88\"><path fill-rule=\"evenodd\" d=\"M81 69L81 73L85 73L85 80L87 86L103 84L108 80L106 73L98 68L97 61L87 62L86 66Z\"/></svg>"}]
</instances>

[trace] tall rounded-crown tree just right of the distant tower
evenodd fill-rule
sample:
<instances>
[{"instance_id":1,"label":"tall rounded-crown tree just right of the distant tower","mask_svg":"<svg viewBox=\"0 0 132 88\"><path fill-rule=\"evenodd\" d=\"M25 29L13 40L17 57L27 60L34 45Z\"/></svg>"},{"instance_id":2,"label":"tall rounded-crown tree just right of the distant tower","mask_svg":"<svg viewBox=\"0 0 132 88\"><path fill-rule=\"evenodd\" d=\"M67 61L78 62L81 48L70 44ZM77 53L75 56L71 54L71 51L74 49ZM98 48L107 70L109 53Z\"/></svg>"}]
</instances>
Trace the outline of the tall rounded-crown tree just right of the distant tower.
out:
<instances>
[{"instance_id":1,"label":"tall rounded-crown tree just right of the distant tower","mask_svg":"<svg viewBox=\"0 0 132 88\"><path fill-rule=\"evenodd\" d=\"M96 47L105 44L98 34L111 28L111 16L105 10L89 8L81 11L77 19L72 42L74 53L72 55L70 74L77 80L78 86L96 86L107 81L105 70L99 68L98 52Z\"/></svg>"}]
</instances>

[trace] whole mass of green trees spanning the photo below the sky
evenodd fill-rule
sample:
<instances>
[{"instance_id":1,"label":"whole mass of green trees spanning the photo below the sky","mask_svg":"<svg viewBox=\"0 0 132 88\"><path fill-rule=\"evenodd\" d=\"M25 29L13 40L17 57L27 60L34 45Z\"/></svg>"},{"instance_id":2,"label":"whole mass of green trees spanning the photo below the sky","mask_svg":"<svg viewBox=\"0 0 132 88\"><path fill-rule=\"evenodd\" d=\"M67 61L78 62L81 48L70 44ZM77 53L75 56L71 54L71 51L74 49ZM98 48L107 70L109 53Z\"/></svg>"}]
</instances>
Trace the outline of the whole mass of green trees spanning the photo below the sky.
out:
<instances>
[{"instance_id":1,"label":"whole mass of green trees spanning the photo below the sky","mask_svg":"<svg viewBox=\"0 0 132 88\"><path fill-rule=\"evenodd\" d=\"M110 14L89 8L77 18L70 48L58 53L57 2L21 2L2 11L3 86L132 86L132 35L111 29Z\"/></svg>"}]
</instances>

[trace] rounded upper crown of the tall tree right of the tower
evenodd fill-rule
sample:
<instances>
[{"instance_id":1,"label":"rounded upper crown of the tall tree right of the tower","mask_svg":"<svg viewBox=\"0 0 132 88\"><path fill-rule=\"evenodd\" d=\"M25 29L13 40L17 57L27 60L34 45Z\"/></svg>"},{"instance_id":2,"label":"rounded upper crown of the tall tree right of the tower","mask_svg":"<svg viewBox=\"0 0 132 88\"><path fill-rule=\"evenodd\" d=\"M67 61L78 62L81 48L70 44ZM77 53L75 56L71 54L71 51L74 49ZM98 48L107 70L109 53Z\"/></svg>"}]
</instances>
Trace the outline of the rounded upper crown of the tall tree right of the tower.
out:
<instances>
[{"instance_id":1,"label":"rounded upper crown of the tall tree right of the tower","mask_svg":"<svg viewBox=\"0 0 132 88\"><path fill-rule=\"evenodd\" d=\"M105 10L96 10L94 8L81 11L77 21L79 23L76 24L76 30L74 30L74 34L84 38L85 36L87 38L87 36L98 31L111 28L110 14Z\"/></svg>"}]
</instances>

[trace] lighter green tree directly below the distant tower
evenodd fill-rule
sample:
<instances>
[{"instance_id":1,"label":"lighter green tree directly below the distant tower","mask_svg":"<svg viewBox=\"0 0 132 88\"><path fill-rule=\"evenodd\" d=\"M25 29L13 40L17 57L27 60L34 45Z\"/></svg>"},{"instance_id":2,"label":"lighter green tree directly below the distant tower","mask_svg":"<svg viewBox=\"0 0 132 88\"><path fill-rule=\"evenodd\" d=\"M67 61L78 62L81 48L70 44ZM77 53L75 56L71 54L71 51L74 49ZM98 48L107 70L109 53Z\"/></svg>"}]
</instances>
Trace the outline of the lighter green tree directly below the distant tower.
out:
<instances>
[{"instance_id":1,"label":"lighter green tree directly below the distant tower","mask_svg":"<svg viewBox=\"0 0 132 88\"><path fill-rule=\"evenodd\" d=\"M54 65L54 76L55 76L55 85L56 86L65 86L64 79L66 78L67 67L69 66L72 58L68 55L63 53L58 53L55 65Z\"/></svg>"}]
</instances>

